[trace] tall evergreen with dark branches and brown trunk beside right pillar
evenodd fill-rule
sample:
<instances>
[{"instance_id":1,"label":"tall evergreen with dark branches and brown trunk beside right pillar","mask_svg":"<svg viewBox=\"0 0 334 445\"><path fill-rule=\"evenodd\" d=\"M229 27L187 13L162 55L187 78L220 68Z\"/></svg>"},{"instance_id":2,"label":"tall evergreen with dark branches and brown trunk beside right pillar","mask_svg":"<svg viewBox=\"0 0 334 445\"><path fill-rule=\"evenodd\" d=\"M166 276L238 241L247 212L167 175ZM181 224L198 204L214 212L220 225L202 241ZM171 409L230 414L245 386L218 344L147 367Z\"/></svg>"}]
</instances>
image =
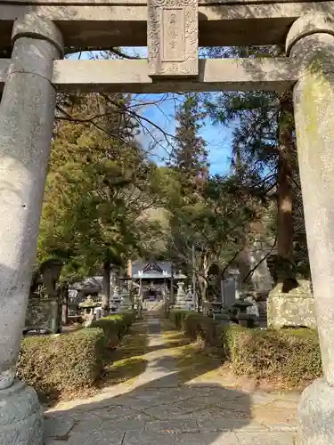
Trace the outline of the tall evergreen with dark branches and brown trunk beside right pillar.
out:
<instances>
[{"instance_id":1,"label":"tall evergreen with dark branches and brown trunk beside right pillar","mask_svg":"<svg viewBox=\"0 0 334 445\"><path fill-rule=\"evenodd\" d=\"M284 52L281 47L267 46L215 49L211 55L277 57ZM296 283L298 272L308 275L305 267L308 257L300 206L292 92L220 93L214 100L208 96L207 106L216 122L234 126L232 162L248 178L241 185L264 200L276 198L276 278L283 284ZM289 291L289 287L283 286L284 290Z\"/></svg>"}]
</instances>

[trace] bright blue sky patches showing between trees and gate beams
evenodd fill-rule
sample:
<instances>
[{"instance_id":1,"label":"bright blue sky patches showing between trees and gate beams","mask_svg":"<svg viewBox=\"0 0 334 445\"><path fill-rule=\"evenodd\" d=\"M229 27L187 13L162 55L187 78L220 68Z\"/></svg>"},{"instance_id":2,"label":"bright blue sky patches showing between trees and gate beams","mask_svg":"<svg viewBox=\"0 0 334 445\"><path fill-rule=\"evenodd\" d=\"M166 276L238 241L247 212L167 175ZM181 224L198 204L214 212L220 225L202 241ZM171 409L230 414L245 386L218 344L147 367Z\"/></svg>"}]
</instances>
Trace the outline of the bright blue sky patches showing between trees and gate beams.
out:
<instances>
[{"instance_id":1,"label":"bright blue sky patches showing between trees and gate beams","mask_svg":"<svg viewBox=\"0 0 334 445\"><path fill-rule=\"evenodd\" d=\"M146 58L147 48L122 48L124 53ZM94 55L98 56L98 52ZM70 58L77 58L72 54ZM92 53L81 53L81 59L92 57ZM137 111L149 121L162 128L167 134L175 134L175 107L182 101L181 95L175 94L136 94L134 101L142 102L143 106ZM152 157L159 164L163 164L168 157L168 137L159 131L157 127L149 122L144 123L140 140L144 147L151 146ZM223 125L213 125L207 118L200 130L201 136L208 144L208 162L212 174L226 174L230 169L231 136L232 130ZM171 138L169 138L171 140Z\"/></svg>"}]
</instances>

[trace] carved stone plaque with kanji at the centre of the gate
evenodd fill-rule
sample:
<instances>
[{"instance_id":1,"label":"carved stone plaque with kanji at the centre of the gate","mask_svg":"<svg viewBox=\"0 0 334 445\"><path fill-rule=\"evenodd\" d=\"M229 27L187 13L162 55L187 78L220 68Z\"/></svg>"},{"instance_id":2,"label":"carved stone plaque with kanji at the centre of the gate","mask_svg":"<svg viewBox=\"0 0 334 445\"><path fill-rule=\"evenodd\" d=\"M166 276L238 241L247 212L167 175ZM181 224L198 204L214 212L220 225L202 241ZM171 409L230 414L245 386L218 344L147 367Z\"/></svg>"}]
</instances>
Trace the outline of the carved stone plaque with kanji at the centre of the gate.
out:
<instances>
[{"instance_id":1,"label":"carved stone plaque with kanji at the centre of the gate","mask_svg":"<svg viewBox=\"0 0 334 445\"><path fill-rule=\"evenodd\" d=\"M151 77L196 77L197 0L149 0L147 45Z\"/></svg>"}]
</instances>

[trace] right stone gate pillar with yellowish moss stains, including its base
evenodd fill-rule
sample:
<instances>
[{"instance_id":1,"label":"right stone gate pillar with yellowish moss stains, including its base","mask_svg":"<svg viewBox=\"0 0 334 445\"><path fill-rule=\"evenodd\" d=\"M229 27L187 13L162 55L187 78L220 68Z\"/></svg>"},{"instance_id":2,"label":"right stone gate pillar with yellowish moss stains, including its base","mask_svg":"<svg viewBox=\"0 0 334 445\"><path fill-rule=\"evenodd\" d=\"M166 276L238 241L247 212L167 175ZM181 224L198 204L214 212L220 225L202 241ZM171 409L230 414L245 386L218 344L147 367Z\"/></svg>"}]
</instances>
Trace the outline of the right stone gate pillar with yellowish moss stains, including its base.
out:
<instances>
[{"instance_id":1,"label":"right stone gate pillar with yellowish moss stains, including its base","mask_svg":"<svg viewBox=\"0 0 334 445\"><path fill-rule=\"evenodd\" d=\"M303 66L294 88L297 150L324 378L305 389L298 444L334 443L334 19L300 17L287 51Z\"/></svg>"}]
</instances>

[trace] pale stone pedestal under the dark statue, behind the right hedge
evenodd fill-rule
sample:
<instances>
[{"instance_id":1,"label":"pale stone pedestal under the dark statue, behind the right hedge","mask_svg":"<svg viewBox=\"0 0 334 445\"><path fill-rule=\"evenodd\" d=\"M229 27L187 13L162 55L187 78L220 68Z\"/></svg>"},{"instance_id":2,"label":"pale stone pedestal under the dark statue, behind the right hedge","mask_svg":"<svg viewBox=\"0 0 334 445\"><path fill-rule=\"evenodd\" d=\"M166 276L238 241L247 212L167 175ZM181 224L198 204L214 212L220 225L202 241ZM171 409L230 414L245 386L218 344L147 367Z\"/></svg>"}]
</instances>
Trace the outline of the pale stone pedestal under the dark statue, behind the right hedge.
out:
<instances>
[{"instance_id":1,"label":"pale stone pedestal under the dark statue, behind the right hedge","mask_svg":"<svg viewBox=\"0 0 334 445\"><path fill-rule=\"evenodd\" d=\"M281 284L274 287L267 300L268 327L273 329L289 327L316 328L314 296L308 281L298 280L299 287L289 293L281 292Z\"/></svg>"}]
</instances>

